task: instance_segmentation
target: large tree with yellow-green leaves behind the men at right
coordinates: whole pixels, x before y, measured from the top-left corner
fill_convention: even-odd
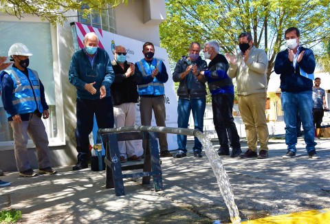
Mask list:
[[[168,0],[161,45],[172,60],[187,54],[191,41],[212,39],[219,41],[222,53],[236,54],[239,34],[250,32],[269,58],[269,80],[288,27],[299,28],[300,43],[307,47],[329,40],[329,5],[329,0]]]

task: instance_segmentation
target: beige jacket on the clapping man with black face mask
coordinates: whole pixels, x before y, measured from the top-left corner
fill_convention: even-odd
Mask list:
[[[247,96],[252,93],[265,93],[267,91],[268,58],[263,49],[252,47],[246,63],[239,53],[235,65],[230,63],[228,76],[236,78],[238,95]],[[245,65],[244,65],[245,64]]]

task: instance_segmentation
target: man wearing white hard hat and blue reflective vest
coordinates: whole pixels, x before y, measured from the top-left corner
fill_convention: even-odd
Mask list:
[[[39,173],[52,175],[56,173],[50,166],[50,149],[45,126],[41,120],[50,115],[45,100],[45,89],[36,71],[28,69],[28,47],[15,43],[9,49],[8,56],[14,62],[12,68],[0,74],[1,100],[12,126],[14,135],[14,153],[17,169],[21,177],[34,177],[36,172],[30,167],[28,135],[36,145]]]

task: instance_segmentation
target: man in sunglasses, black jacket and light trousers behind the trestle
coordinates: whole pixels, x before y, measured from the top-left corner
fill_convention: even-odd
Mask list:
[[[137,83],[141,81],[142,75],[135,72],[135,66],[126,60],[126,49],[116,46],[113,52],[115,59],[111,61],[115,80],[111,85],[113,104],[113,115],[115,127],[135,125],[135,103],[139,99]],[[125,155],[129,161],[139,161],[140,157],[135,155],[134,141],[118,142],[120,150],[120,162],[125,162]]]

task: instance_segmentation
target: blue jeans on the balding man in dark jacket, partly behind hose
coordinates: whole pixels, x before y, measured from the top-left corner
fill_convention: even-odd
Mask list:
[[[195,130],[203,132],[203,118],[206,107],[206,98],[180,99],[177,104],[177,127],[188,128],[190,111],[194,118]],[[187,136],[177,135],[177,146],[179,152],[187,153]],[[201,153],[201,142],[195,137],[194,153]]]

